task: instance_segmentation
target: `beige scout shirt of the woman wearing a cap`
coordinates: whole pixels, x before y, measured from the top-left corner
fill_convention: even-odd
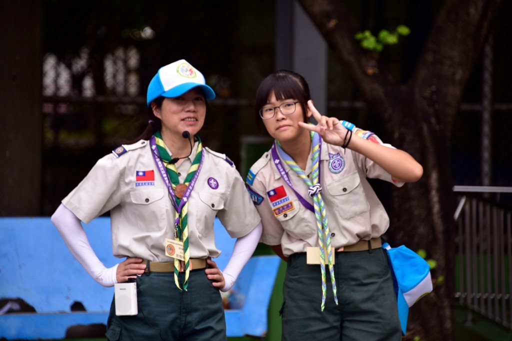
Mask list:
[[[127,152],[119,157],[112,153],[101,158],[62,203],[85,223],[110,210],[115,257],[173,261],[165,255],[164,241],[174,239],[175,209],[150,143],[141,140],[124,147]],[[197,143],[191,156],[178,167],[181,182],[196,150]],[[247,235],[260,222],[237,169],[226,162],[223,154],[208,148],[203,148],[203,153],[204,163],[188,201],[191,258],[219,256],[214,238],[216,216],[233,238]],[[139,171],[145,171],[150,180],[136,181]],[[218,188],[211,179],[217,181]]]

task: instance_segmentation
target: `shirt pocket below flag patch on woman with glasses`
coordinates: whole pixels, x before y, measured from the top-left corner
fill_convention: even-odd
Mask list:
[[[274,212],[275,219],[277,219],[281,223],[283,229],[291,237],[300,240],[306,240],[310,238],[311,236],[314,235],[314,233],[316,233],[316,225],[311,225],[311,223],[305,217],[307,208],[302,206],[298,200],[292,200],[289,201],[289,203],[293,205],[293,209],[287,210],[283,214],[279,214],[278,211],[278,216],[275,216],[275,210],[279,209],[279,207],[272,209],[272,211]],[[280,207],[282,206],[283,205],[281,205]]]

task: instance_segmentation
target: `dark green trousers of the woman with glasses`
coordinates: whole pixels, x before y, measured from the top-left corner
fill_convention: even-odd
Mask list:
[[[306,253],[292,254],[283,287],[283,341],[401,340],[400,322],[388,256],[382,248],[336,252],[334,302],[328,267],[327,300],[322,304],[319,265],[306,264]]]

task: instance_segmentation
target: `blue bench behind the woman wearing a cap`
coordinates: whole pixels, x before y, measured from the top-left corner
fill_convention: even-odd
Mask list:
[[[110,218],[97,218],[84,228],[105,266],[118,263],[112,256]],[[214,260],[223,269],[234,240],[217,219],[215,235],[223,252]],[[106,325],[114,289],[100,286],[89,276],[49,217],[0,218],[0,259],[0,300],[20,299],[35,309],[5,313],[7,307],[0,306],[0,338],[61,339],[72,326]],[[260,255],[247,263],[230,296],[237,309],[225,310],[228,337],[265,336],[280,262],[275,255]],[[86,311],[72,311],[75,303]]]

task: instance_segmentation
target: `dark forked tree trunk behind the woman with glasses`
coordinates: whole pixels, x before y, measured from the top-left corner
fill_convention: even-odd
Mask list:
[[[393,189],[389,212],[393,244],[423,248],[438,263],[432,270],[434,291],[410,310],[404,339],[453,340],[456,230],[450,138],[467,79],[502,0],[447,0],[408,84],[396,84],[385,71],[365,72],[373,61],[353,38],[358,30],[344,2],[299,2],[365,97],[371,115],[382,122],[378,133],[423,165],[420,181]]]

